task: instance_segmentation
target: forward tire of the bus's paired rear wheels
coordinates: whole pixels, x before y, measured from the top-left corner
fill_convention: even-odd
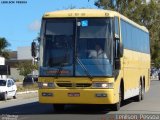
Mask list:
[[[140,102],[143,99],[144,99],[144,87],[142,85],[142,82],[140,82],[140,84],[139,84],[139,95],[135,96],[135,100],[137,102]]]

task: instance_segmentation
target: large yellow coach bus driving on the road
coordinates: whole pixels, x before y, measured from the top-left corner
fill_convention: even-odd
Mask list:
[[[39,41],[39,102],[55,110],[66,104],[119,110],[122,101],[141,101],[149,90],[149,32],[118,12],[47,12]]]

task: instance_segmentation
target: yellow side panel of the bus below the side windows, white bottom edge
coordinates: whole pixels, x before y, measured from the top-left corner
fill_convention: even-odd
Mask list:
[[[150,55],[124,49],[123,60],[124,98],[138,95],[140,79],[144,80],[145,91],[148,91],[150,86]]]

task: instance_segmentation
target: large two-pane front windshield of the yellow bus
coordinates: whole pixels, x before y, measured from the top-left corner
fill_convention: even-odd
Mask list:
[[[40,74],[111,76],[112,26],[111,18],[47,19]]]

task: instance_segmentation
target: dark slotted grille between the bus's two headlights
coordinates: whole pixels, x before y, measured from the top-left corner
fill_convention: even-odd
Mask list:
[[[58,87],[91,87],[91,83],[57,83]]]

